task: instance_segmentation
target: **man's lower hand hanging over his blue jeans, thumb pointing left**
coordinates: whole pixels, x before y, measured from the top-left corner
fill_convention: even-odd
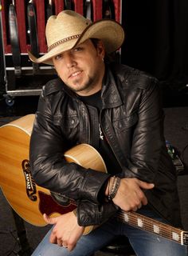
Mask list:
[[[56,218],[51,218],[46,214],[43,215],[45,222],[55,225],[49,241],[57,243],[58,246],[64,246],[69,251],[73,250],[76,242],[84,233],[84,226],[77,224],[77,218],[73,212],[63,214]]]

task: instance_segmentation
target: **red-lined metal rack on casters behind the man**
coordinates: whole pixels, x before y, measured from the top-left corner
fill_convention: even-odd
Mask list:
[[[64,0],[0,0],[0,43],[2,43],[2,62],[4,78],[1,83],[4,86],[3,97],[8,106],[13,106],[15,97],[40,95],[41,88],[50,79],[57,77],[53,66],[39,64],[37,72],[33,72],[33,63],[29,61],[28,50],[32,49],[31,38],[29,35],[28,5],[32,4],[36,17],[36,34],[38,43],[38,57],[45,54],[47,46],[45,42],[45,23],[47,20],[46,9],[49,3],[53,5],[53,14],[58,14],[61,10],[65,10]],[[74,0],[72,8],[80,14],[84,14],[84,5],[88,2],[92,3],[93,21],[103,18],[102,5],[103,0]],[[112,0],[116,21],[121,22],[121,0]],[[15,29],[18,33],[18,45],[20,47],[19,59],[20,70],[14,63],[14,50],[11,43],[10,31],[10,6],[14,7],[17,24]],[[18,72],[19,71],[19,72]],[[2,86],[1,86],[2,87]]]

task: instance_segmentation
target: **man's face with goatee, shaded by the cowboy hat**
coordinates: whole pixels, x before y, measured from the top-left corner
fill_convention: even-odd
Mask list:
[[[104,77],[104,46],[97,48],[91,40],[59,54],[53,58],[53,65],[63,82],[76,94],[91,95],[101,89]]]

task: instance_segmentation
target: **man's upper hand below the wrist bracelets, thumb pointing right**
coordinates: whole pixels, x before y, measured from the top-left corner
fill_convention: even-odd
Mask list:
[[[142,182],[138,178],[122,178],[119,189],[112,201],[125,211],[136,211],[142,205],[147,205],[143,190],[151,190],[154,184]]]

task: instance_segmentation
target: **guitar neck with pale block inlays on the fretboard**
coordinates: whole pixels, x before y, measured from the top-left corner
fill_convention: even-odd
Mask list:
[[[135,226],[141,230],[146,230],[153,234],[158,234],[163,238],[173,240],[182,245],[188,245],[188,232],[169,226],[162,222],[158,222],[152,218],[148,218],[135,212],[119,211],[118,218],[122,222],[126,222],[131,226]]]

